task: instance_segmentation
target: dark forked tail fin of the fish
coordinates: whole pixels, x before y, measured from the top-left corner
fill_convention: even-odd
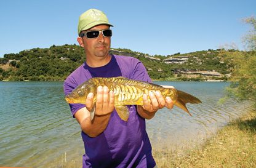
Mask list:
[[[180,90],[177,90],[177,94],[178,94],[178,98],[174,104],[179,108],[181,108],[182,110],[186,111],[186,113],[190,114],[190,116],[192,116],[190,111],[188,111],[188,108],[186,108],[186,103],[198,104],[198,103],[202,103],[201,100],[194,97],[193,95],[187,94]]]

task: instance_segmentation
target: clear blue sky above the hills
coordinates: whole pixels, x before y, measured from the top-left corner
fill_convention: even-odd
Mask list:
[[[114,25],[111,47],[150,55],[218,49],[243,50],[250,30],[242,18],[256,16],[256,1],[0,1],[0,57],[34,47],[78,44],[78,17],[87,9],[105,12]]]

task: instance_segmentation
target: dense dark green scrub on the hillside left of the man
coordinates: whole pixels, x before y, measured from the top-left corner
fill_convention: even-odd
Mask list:
[[[84,62],[84,51],[76,45],[52,46],[50,49],[34,48],[19,54],[5,54],[1,65],[9,60],[16,67],[0,71],[1,80],[9,81],[60,81]]]

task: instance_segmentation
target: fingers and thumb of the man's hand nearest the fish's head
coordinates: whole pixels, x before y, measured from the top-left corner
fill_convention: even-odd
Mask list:
[[[94,108],[94,94],[89,93],[86,98],[86,108],[91,111]],[[114,92],[110,91],[108,87],[99,86],[97,88],[95,114],[97,116],[104,116],[114,111]]]

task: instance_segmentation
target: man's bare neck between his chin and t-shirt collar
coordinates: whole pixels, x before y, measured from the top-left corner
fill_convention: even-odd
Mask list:
[[[90,67],[100,67],[108,64],[111,60],[111,55],[108,54],[106,57],[86,57],[86,63]]]

